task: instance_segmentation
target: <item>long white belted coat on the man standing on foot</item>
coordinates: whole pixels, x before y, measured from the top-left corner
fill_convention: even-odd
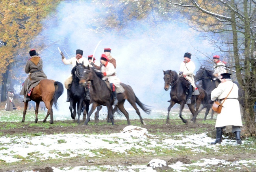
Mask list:
[[[234,87],[232,89],[232,86]],[[232,91],[230,92],[230,90]],[[228,95],[228,93],[230,94]],[[232,81],[226,81],[224,83],[220,83],[216,89],[211,92],[211,100],[214,101],[216,98],[223,99],[226,98],[235,98],[235,99],[226,99],[223,107],[221,109],[221,113],[218,114],[215,128],[216,127],[224,127],[224,126],[243,126],[240,106],[237,100],[238,98],[238,87]],[[221,102],[223,103],[223,101]]]

